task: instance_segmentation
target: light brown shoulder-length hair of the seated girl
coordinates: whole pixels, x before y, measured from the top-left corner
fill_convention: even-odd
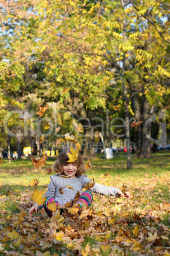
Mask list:
[[[71,153],[70,148],[64,148],[62,152],[60,152],[60,154],[58,155],[55,164],[53,164],[53,168],[58,174],[63,174],[63,165],[69,161],[67,153]],[[77,173],[75,174],[75,176],[81,176],[81,174],[86,172],[86,168],[80,153],[78,153],[75,164],[77,164]]]

